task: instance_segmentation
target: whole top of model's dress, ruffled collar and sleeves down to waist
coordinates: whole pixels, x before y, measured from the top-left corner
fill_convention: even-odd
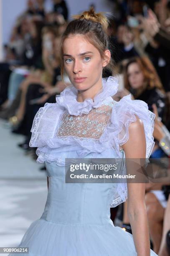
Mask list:
[[[129,125],[135,122],[137,117],[142,121],[145,130],[146,158],[150,156],[155,144],[152,136],[155,114],[148,110],[147,104],[142,100],[132,100],[130,94],[124,96],[119,102],[113,100],[112,96],[117,90],[116,78],[102,79],[102,89],[95,95],[94,100],[86,98],[84,102],[77,102],[77,90],[71,85],[61,92],[60,97],[56,98],[56,103],[46,103],[36,113],[31,129],[30,147],[37,147],[37,162],[46,162],[51,180],[46,209],[55,207],[58,202],[65,204],[65,210],[66,206],[70,209],[75,197],[75,200],[80,202],[77,207],[81,207],[83,211],[82,202],[88,197],[90,203],[92,200],[90,194],[96,195],[94,202],[102,202],[100,189],[103,189],[104,198],[108,199],[109,189],[113,188],[109,184],[105,187],[104,184],[64,184],[58,177],[65,174],[62,170],[66,158],[121,159],[125,157],[122,155],[121,147],[128,141]],[[121,172],[122,169],[119,174],[122,174]],[[51,173],[54,175],[51,176]],[[93,191],[93,185],[98,193]],[[69,193],[69,189],[74,191],[74,186],[79,194],[71,199],[70,195],[74,192]],[[61,194],[63,200],[57,197],[58,194]],[[111,189],[110,195],[112,195],[110,207],[124,202],[127,199],[127,184],[119,183],[115,189]],[[103,203],[107,205],[108,202],[106,200]],[[57,205],[56,211],[57,208],[62,207]],[[91,212],[98,210],[102,214],[100,207]],[[44,214],[48,218],[50,210]],[[57,217],[54,216],[54,218]]]

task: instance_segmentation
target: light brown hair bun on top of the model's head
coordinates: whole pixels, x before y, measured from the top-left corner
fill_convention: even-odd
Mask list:
[[[95,13],[94,8],[91,7],[88,11],[84,11],[83,13],[79,15],[73,15],[72,17],[75,20],[92,20],[94,22],[98,22],[101,24],[103,29],[106,31],[107,27],[109,25],[109,20],[106,16],[104,16],[105,12]]]

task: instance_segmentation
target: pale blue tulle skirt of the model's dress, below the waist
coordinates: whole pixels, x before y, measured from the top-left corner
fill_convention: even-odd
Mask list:
[[[77,225],[35,220],[18,247],[29,253],[8,256],[137,256],[133,236],[120,227]],[[151,250],[151,256],[157,256]]]

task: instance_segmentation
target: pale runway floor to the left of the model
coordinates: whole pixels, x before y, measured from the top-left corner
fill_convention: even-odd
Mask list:
[[[46,173],[17,146],[23,139],[0,121],[0,247],[18,246],[46,204]]]

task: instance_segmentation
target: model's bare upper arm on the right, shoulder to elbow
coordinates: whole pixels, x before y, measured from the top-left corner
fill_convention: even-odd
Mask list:
[[[129,125],[129,139],[122,145],[122,148],[126,158],[136,159],[137,162],[140,162],[140,158],[146,158],[146,139],[142,120],[137,116],[136,118],[137,120]],[[127,190],[128,212],[139,210],[139,207],[145,202],[145,183],[127,183]]]

